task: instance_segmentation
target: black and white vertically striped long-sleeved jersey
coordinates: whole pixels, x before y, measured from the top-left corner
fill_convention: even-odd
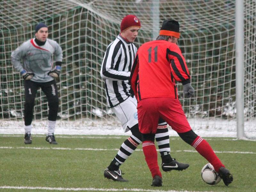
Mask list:
[[[122,103],[132,92],[128,79],[136,52],[136,46],[126,42],[120,35],[108,45],[100,76],[105,79],[107,103],[110,108]]]

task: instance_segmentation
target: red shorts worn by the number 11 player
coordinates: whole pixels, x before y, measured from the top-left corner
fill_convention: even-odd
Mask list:
[[[164,119],[178,133],[191,130],[178,99],[169,97],[146,98],[139,101],[137,109],[139,129],[142,133],[156,133],[159,117]]]

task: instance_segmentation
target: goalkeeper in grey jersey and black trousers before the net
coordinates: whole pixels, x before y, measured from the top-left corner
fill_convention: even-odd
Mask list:
[[[57,113],[59,109],[58,88],[55,82],[60,76],[62,50],[60,45],[48,39],[48,27],[39,23],[35,29],[36,38],[21,44],[12,52],[11,62],[16,71],[24,79],[25,87],[25,137],[24,143],[31,144],[31,129],[33,108],[38,88],[41,88],[48,101],[48,133],[46,141],[57,144],[54,136]],[[55,68],[53,69],[53,56],[55,56]]]

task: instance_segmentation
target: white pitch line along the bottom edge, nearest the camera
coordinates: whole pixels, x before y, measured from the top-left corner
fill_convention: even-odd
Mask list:
[[[62,187],[23,187],[23,186],[0,186],[2,189],[40,189],[40,190],[57,190],[57,191],[145,191],[145,192],[199,192],[199,191],[176,191],[176,190],[151,190],[139,188],[62,188]]]

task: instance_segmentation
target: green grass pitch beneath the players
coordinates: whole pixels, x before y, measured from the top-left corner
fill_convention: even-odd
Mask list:
[[[162,171],[163,187],[154,188],[150,186],[152,178],[141,145],[121,165],[123,177],[129,182],[104,178],[104,169],[127,136],[73,135],[68,138],[56,135],[58,145],[50,145],[43,135],[32,135],[32,144],[25,145],[23,137],[0,135],[0,191],[75,191],[79,188],[84,191],[256,190],[255,141],[204,138],[233,174],[233,183],[226,187],[223,181],[214,186],[204,183],[200,173],[207,161],[179,137],[170,137],[172,157],[190,166],[182,172]],[[159,153],[158,157],[160,165]]]

